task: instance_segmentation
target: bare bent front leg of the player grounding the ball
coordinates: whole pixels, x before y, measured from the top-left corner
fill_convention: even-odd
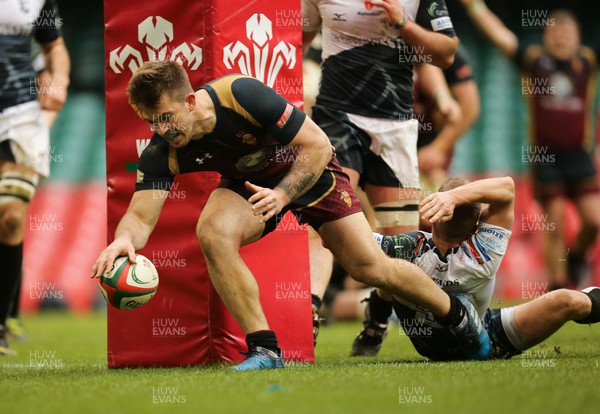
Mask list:
[[[258,284],[239,252],[264,226],[247,200],[225,188],[212,192],[196,226],[215,290],[246,334],[269,329]]]

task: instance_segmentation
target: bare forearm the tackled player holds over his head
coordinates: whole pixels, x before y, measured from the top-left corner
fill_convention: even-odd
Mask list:
[[[512,203],[515,184],[511,177],[488,178],[450,190],[456,204],[486,203],[494,206]]]

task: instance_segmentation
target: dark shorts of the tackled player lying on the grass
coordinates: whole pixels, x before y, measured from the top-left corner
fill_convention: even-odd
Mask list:
[[[415,317],[415,311],[397,301],[394,301],[394,310],[404,332],[420,355],[433,361],[467,359],[459,348],[458,340],[448,329],[423,324]],[[512,358],[522,353],[508,339],[502,326],[500,309],[488,309],[483,318],[483,326],[492,342],[492,359]]]

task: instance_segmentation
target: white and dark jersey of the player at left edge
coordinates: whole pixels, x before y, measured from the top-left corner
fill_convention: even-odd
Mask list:
[[[0,1],[0,111],[37,99],[31,40],[60,37],[62,19],[52,0]]]

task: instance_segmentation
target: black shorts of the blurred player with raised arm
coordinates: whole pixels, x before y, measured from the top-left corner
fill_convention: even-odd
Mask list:
[[[555,197],[577,199],[598,192],[596,167],[583,149],[553,150],[525,157],[531,166],[535,198],[544,203]]]

